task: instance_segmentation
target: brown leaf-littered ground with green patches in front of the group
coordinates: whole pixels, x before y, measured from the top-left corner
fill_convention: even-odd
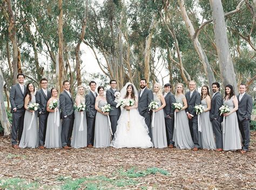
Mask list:
[[[0,189],[256,189],[250,151],[12,149],[0,137]]]

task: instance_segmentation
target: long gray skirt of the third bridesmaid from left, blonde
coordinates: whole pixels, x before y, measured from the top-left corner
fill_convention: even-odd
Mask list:
[[[83,119],[82,123],[81,119]],[[86,111],[80,112],[75,110],[75,121],[72,132],[71,146],[75,149],[87,146]]]

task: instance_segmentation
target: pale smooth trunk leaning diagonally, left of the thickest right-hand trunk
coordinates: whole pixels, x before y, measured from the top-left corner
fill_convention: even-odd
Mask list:
[[[186,24],[187,31],[190,34],[190,38],[191,38],[191,40],[194,44],[194,48],[196,49],[197,54],[199,56],[199,59],[200,59],[201,63],[204,66],[205,75],[208,79],[208,83],[209,83],[210,88],[211,88],[211,84],[213,82],[215,82],[214,74],[213,74],[211,65],[209,64],[207,55],[205,54],[205,52],[203,50],[203,47],[201,46],[201,44],[198,40],[198,37],[197,36],[194,37],[194,33],[195,33],[194,26],[191,23],[190,18],[187,16],[184,0],[179,1],[179,7],[180,7],[181,16],[183,18],[183,21]]]

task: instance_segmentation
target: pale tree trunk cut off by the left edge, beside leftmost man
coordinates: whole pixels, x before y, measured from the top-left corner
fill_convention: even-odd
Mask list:
[[[4,135],[10,135],[11,128],[10,123],[6,114],[5,105],[4,105],[4,75],[2,69],[0,68],[0,122],[4,129]]]

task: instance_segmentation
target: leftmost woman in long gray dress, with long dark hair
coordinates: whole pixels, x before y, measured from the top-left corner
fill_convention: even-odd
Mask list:
[[[35,87],[32,83],[26,86],[26,93],[24,99],[24,108],[26,109],[24,115],[24,127],[22,132],[19,147],[35,148],[38,147],[38,125],[37,125],[37,111],[29,110],[28,105],[36,103]]]

